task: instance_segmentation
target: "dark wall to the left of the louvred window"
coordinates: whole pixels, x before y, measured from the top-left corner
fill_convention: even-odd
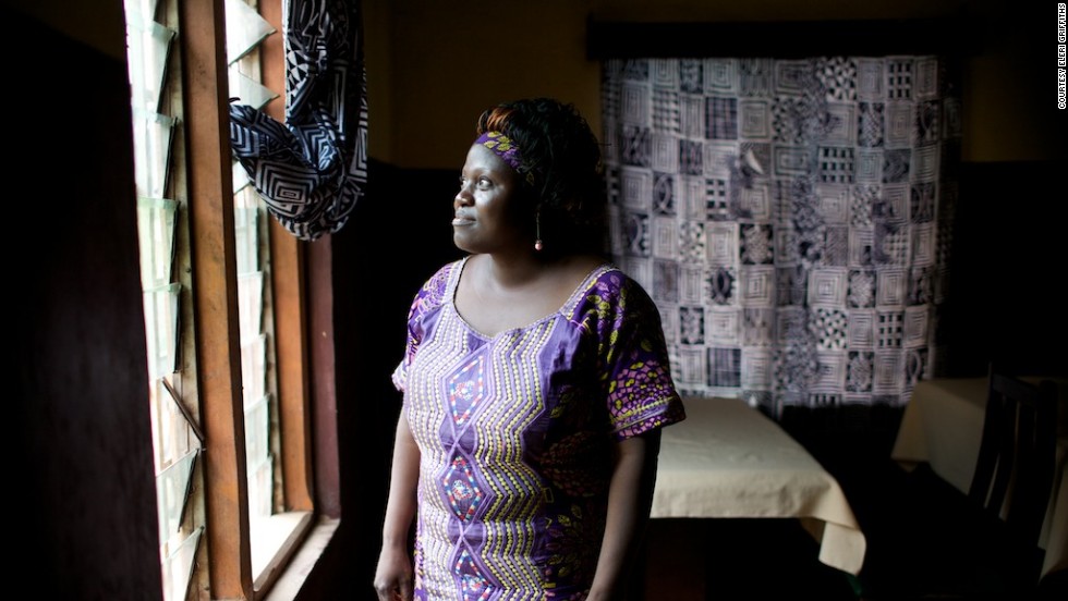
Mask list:
[[[0,22],[9,573],[41,599],[161,599],[125,64]]]

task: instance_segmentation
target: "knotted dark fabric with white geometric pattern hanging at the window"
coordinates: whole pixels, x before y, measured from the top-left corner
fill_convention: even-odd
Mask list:
[[[267,210],[301,240],[340,230],[367,182],[359,2],[288,0],[286,123],[230,105],[230,144]]]

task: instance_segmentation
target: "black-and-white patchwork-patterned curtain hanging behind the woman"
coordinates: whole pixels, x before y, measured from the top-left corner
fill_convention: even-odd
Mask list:
[[[938,334],[960,148],[938,57],[612,59],[612,253],[687,394],[908,402]]]

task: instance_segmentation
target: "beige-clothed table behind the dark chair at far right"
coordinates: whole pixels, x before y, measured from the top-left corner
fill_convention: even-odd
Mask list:
[[[1023,378],[1037,382],[1042,378]],[[1058,383],[1056,475],[1039,545],[1046,550],[1042,575],[1068,568],[1068,383]],[[921,380],[901,416],[890,456],[906,469],[926,462],[960,491],[971,486],[983,433],[987,378]]]

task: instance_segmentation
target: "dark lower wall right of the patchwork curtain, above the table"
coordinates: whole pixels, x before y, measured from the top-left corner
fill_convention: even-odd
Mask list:
[[[1068,203],[1064,161],[966,163],[944,319],[950,372],[997,360],[1020,375],[1068,376]]]

